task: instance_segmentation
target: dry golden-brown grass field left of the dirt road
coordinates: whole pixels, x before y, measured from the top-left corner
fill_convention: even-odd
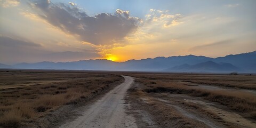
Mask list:
[[[118,75],[85,71],[0,70],[0,75],[0,127],[19,127],[123,81]]]

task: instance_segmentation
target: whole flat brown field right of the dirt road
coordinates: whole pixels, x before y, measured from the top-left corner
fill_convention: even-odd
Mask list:
[[[256,76],[130,73],[127,101],[146,127],[255,127]],[[145,118],[151,115],[152,120]],[[141,120],[141,121],[139,121]],[[151,122],[151,123],[150,123]],[[152,123],[153,122],[153,123]]]

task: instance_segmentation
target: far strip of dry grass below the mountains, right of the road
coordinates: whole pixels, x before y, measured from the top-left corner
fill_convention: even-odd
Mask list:
[[[164,73],[126,73],[151,82],[197,83],[238,89],[256,90],[255,75],[218,75],[218,74],[164,74]]]

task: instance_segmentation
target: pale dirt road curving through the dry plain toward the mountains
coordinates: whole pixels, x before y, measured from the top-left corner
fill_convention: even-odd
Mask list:
[[[133,78],[123,77],[124,83],[116,86],[103,98],[93,103],[89,109],[81,111],[82,116],[60,127],[137,127],[135,119],[125,113],[127,104],[124,102],[124,96],[133,83]]]

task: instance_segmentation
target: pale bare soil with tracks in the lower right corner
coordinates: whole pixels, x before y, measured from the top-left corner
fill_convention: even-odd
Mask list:
[[[156,100],[175,107],[181,114],[210,127],[254,127],[256,123],[229,111],[226,106],[183,94],[158,93]],[[208,115],[207,114],[212,114]]]

